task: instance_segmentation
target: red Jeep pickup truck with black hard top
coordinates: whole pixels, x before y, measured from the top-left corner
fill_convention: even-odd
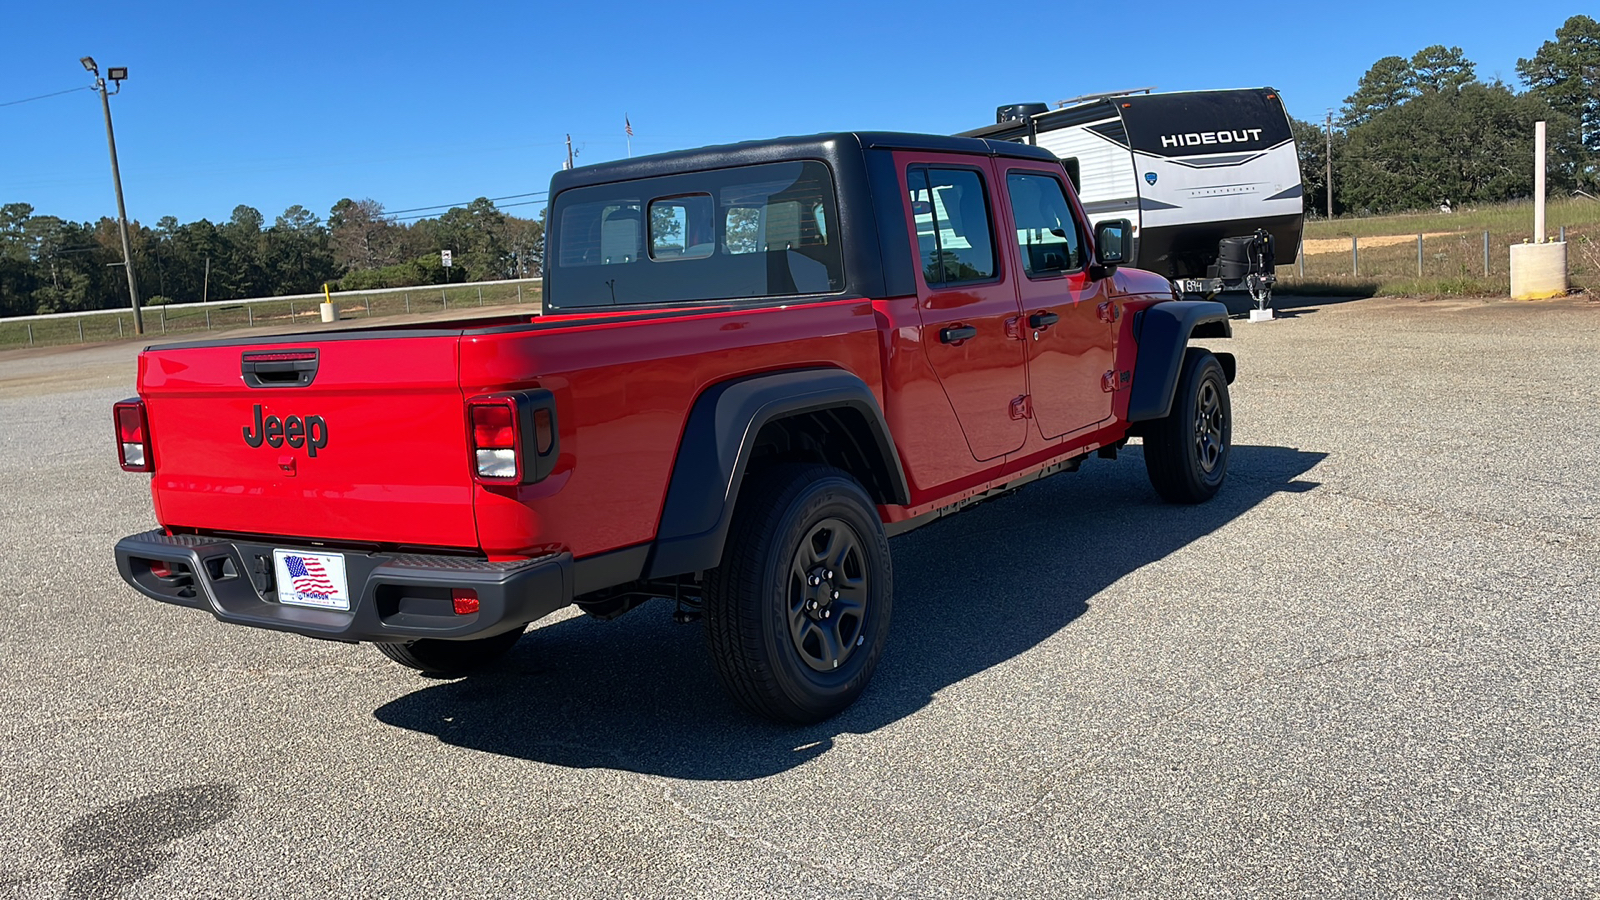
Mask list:
[[[890,536],[1130,436],[1166,500],[1222,484],[1226,309],[1118,267],[1046,151],[707,147],[562,171],[547,221],[541,315],[146,349],[122,577],[437,674],[675,597],[741,706],[813,722],[883,653]]]

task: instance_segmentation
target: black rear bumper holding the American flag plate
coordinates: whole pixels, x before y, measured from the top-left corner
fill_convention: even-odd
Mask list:
[[[280,604],[272,551],[341,552],[350,609]],[[165,567],[171,573],[157,575]],[[117,541],[117,570],[139,593],[208,610],[232,625],[293,631],[331,641],[398,642],[488,637],[573,602],[573,557],[514,562],[459,556],[374,554],[294,543],[254,543],[160,530]],[[478,610],[458,615],[453,588],[477,593]]]

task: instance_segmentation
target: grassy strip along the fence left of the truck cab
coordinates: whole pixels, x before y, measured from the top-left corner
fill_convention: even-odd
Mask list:
[[[350,322],[371,315],[419,315],[450,309],[474,311],[480,304],[515,304],[518,285],[426,285],[395,288],[378,295],[333,295],[339,319]],[[482,298],[482,299],[480,299]],[[522,285],[523,304],[539,299],[539,285]],[[224,331],[248,327],[314,327],[322,323],[315,299],[251,299],[237,304],[197,307],[187,304],[144,307],[144,338],[194,336],[206,331]],[[82,330],[80,330],[82,328]],[[0,349],[29,346],[77,344],[115,341],[133,336],[133,314],[126,309],[109,309],[94,315],[69,319],[6,319],[0,320]]]

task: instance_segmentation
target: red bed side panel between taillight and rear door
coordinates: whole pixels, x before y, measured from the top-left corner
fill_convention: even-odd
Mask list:
[[[866,299],[466,335],[464,396],[554,392],[562,447],[539,484],[474,488],[480,546],[493,557],[542,549],[582,557],[648,541],[683,424],[706,388],[834,367],[858,375],[882,405],[878,359]]]

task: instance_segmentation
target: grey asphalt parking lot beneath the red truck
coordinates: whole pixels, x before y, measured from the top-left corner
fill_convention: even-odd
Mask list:
[[[1290,306],[1213,503],[1131,447],[898,538],[806,729],[661,602],[429,681],[147,601],[136,346],[0,354],[0,895],[1600,895],[1600,303]]]

